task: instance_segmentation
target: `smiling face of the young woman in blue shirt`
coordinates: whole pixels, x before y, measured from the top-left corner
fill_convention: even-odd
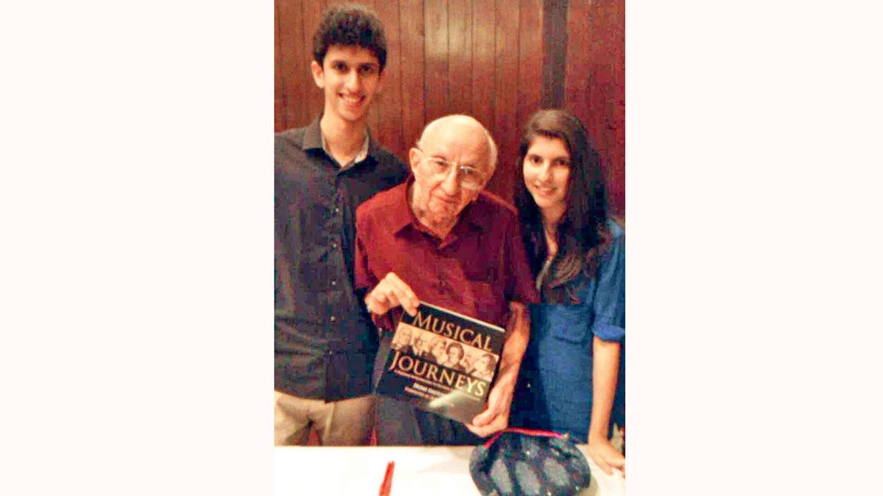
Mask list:
[[[537,135],[525,154],[525,186],[544,217],[559,218],[567,209],[570,153],[558,138]]]

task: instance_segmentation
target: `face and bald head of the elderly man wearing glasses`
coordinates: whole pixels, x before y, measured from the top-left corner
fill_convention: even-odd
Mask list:
[[[455,116],[460,117],[460,116]],[[446,233],[463,209],[479,196],[479,190],[464,188],[458,166],[478,169],[490,178],[490,146],[484,128],[467,118],[448,118],[427,128],[419,148],[411,148],[409,158],[414,172],[411,209],[419,221],[438,233]],[[437,174],[429,159],[456,163],[448,174]]]

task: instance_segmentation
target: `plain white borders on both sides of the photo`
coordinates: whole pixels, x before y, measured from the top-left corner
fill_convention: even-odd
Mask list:
[[[0,8],[0,493],[271,493],[272,5]],[[630,494],[879,486],[880,13],[628,4]]]

